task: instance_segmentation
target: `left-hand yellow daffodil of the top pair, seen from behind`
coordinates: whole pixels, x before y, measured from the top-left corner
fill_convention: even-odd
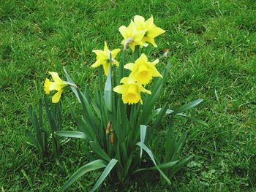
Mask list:
[[[121,44],[124,45],[124,50],[127,48],[127,45],[131,47],[132,52],[135,51],[136,45],[146,46],[146,44],[141,41],[146,33],[146,30],[138,30],[132,20],[128,27],[121,26],[119,28],[119,32],[124,37],[124,40],[121,42]]]

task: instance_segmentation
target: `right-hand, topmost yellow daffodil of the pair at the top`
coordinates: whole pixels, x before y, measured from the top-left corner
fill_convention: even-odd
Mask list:
[[[154,18],[151,16],[148,20],[145,21],[140,15],[136,15],[134,19],[135,27],[137,30],[146,30],[146,33],[142,39],[142,42],[145,44],[146,42],[151,43],[154,47],[157,47],[157,44],[154,42],[154,38],[159,36],[160,34],[165,33],[165,30],[157,27],[154,24]]]

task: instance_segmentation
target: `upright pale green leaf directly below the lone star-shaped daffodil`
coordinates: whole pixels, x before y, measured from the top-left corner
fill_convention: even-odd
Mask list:
[[[104,101],[107,109],[112,112],[112,85],[111,85],[111,64],[108,69],[108,77],[104,88]]]

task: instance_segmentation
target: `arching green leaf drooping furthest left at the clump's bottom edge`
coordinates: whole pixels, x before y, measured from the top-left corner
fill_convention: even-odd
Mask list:
[[[61,190],[64,191],[65,189],[67,189],[70,185],[72,185],[72,183],[78,180],[79,177],[83,176],[83,174],[86,174],[86,172],[91,172],[97,169],[104,168],[106,166],[106,161],[103,161],[101,159],[91,161],[91,163],[81,166],[74,174],[72,174],[69,180],[67,180],[67,182],[62,186]]]

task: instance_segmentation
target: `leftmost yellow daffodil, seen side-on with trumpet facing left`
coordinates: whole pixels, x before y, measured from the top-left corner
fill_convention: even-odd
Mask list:
[[[61,80],[58,73],[49,72],[51,77],[53,77],[53,82],[51,82],[48,78],[45,80],[45,93],[50,94],[50,91],[58,91],[53,95],[52,101],[53,103],[58,103],[59,99],[61,99],[61,93],[64,91],[64,88],[69,85],[68,82]]]

